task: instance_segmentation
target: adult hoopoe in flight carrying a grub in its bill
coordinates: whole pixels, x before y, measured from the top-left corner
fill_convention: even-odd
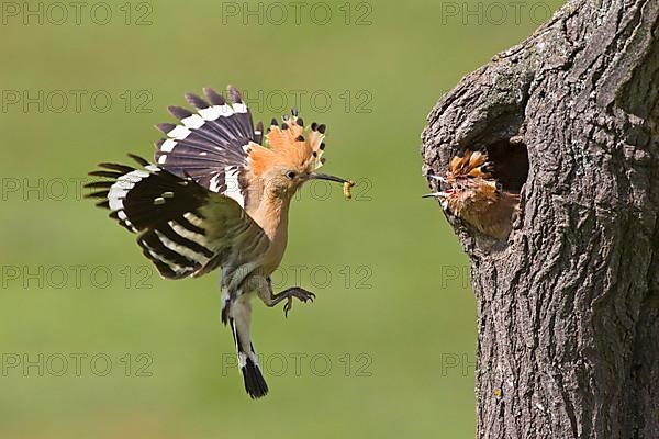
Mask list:
[[[286,300],[287,316],[293,297],[314,299],[299,286],[275,294],[270,282],[287,246],[291,198],[312,179],[353,182],[317,172],[325,125],[305,127],[292,110],[264,135],[237,89],[228,87],[228,100],[212,89],[204,93],[209,102],[186,94],[197,113],[169,108],[181,124],[156,125],[167,135],[156,143],[157,165],[133,155],[142,168],[100,164],[90,176],[109,180],[87,184],[98,190],[88,196],[103,199],[97,205],[139,234],[144,256],[164,278],[221,268],[221,318],[231,326],[245,390],[258,398],[268,386],[249,336],[252,296],[267,306]]]

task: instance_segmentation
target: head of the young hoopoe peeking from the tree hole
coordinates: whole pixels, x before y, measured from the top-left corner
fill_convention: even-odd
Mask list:
[[[487,153],[465,151],[450,160],[446,177],[429,175],[440,182],[440,190],[424,196],[438,198],[442,207],[457,216],[465,216],[479,204],[496,201],[500,187],[492,177]]]

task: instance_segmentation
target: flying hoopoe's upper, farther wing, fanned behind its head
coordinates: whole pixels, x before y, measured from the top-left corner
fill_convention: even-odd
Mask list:
[[[203,91],[209,102],[197,94],[186,94],[197,113],[180,106],[169,108],[181,125],[156,125],[167,138],[156,143],[155,160],[169,172],[191,177],[200,185],[245,207],[246,148],[250,142],[261,144],[263,124],[254,128],[249,109],[236,88],[228,87],[228,102],[213,89]]]

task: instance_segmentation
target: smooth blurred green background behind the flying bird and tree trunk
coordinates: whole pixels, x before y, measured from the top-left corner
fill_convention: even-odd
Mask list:
[[[0,437],[473,437],[468,261],[420,198],[420,133],[560,2],[98,3],[2,3]],[[183,92],[227,83],[256,119],[326,123],[324,169],[359,180],[294,202],[275,283],[317,300],[288,320],[255,301],[257,402],[217,274],[160,280],[79,193],[97,162],[149,156]]]

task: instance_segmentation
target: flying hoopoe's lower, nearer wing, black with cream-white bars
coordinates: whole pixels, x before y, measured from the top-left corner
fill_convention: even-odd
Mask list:
[[[264,230],[233,199],[209,191],[190,178],[133,157],[143,169],[101,164],[90,176],[87,196],[134,233],[137,244],[164,278],[198,277],[222,266],[231,269],[265,252]]]

